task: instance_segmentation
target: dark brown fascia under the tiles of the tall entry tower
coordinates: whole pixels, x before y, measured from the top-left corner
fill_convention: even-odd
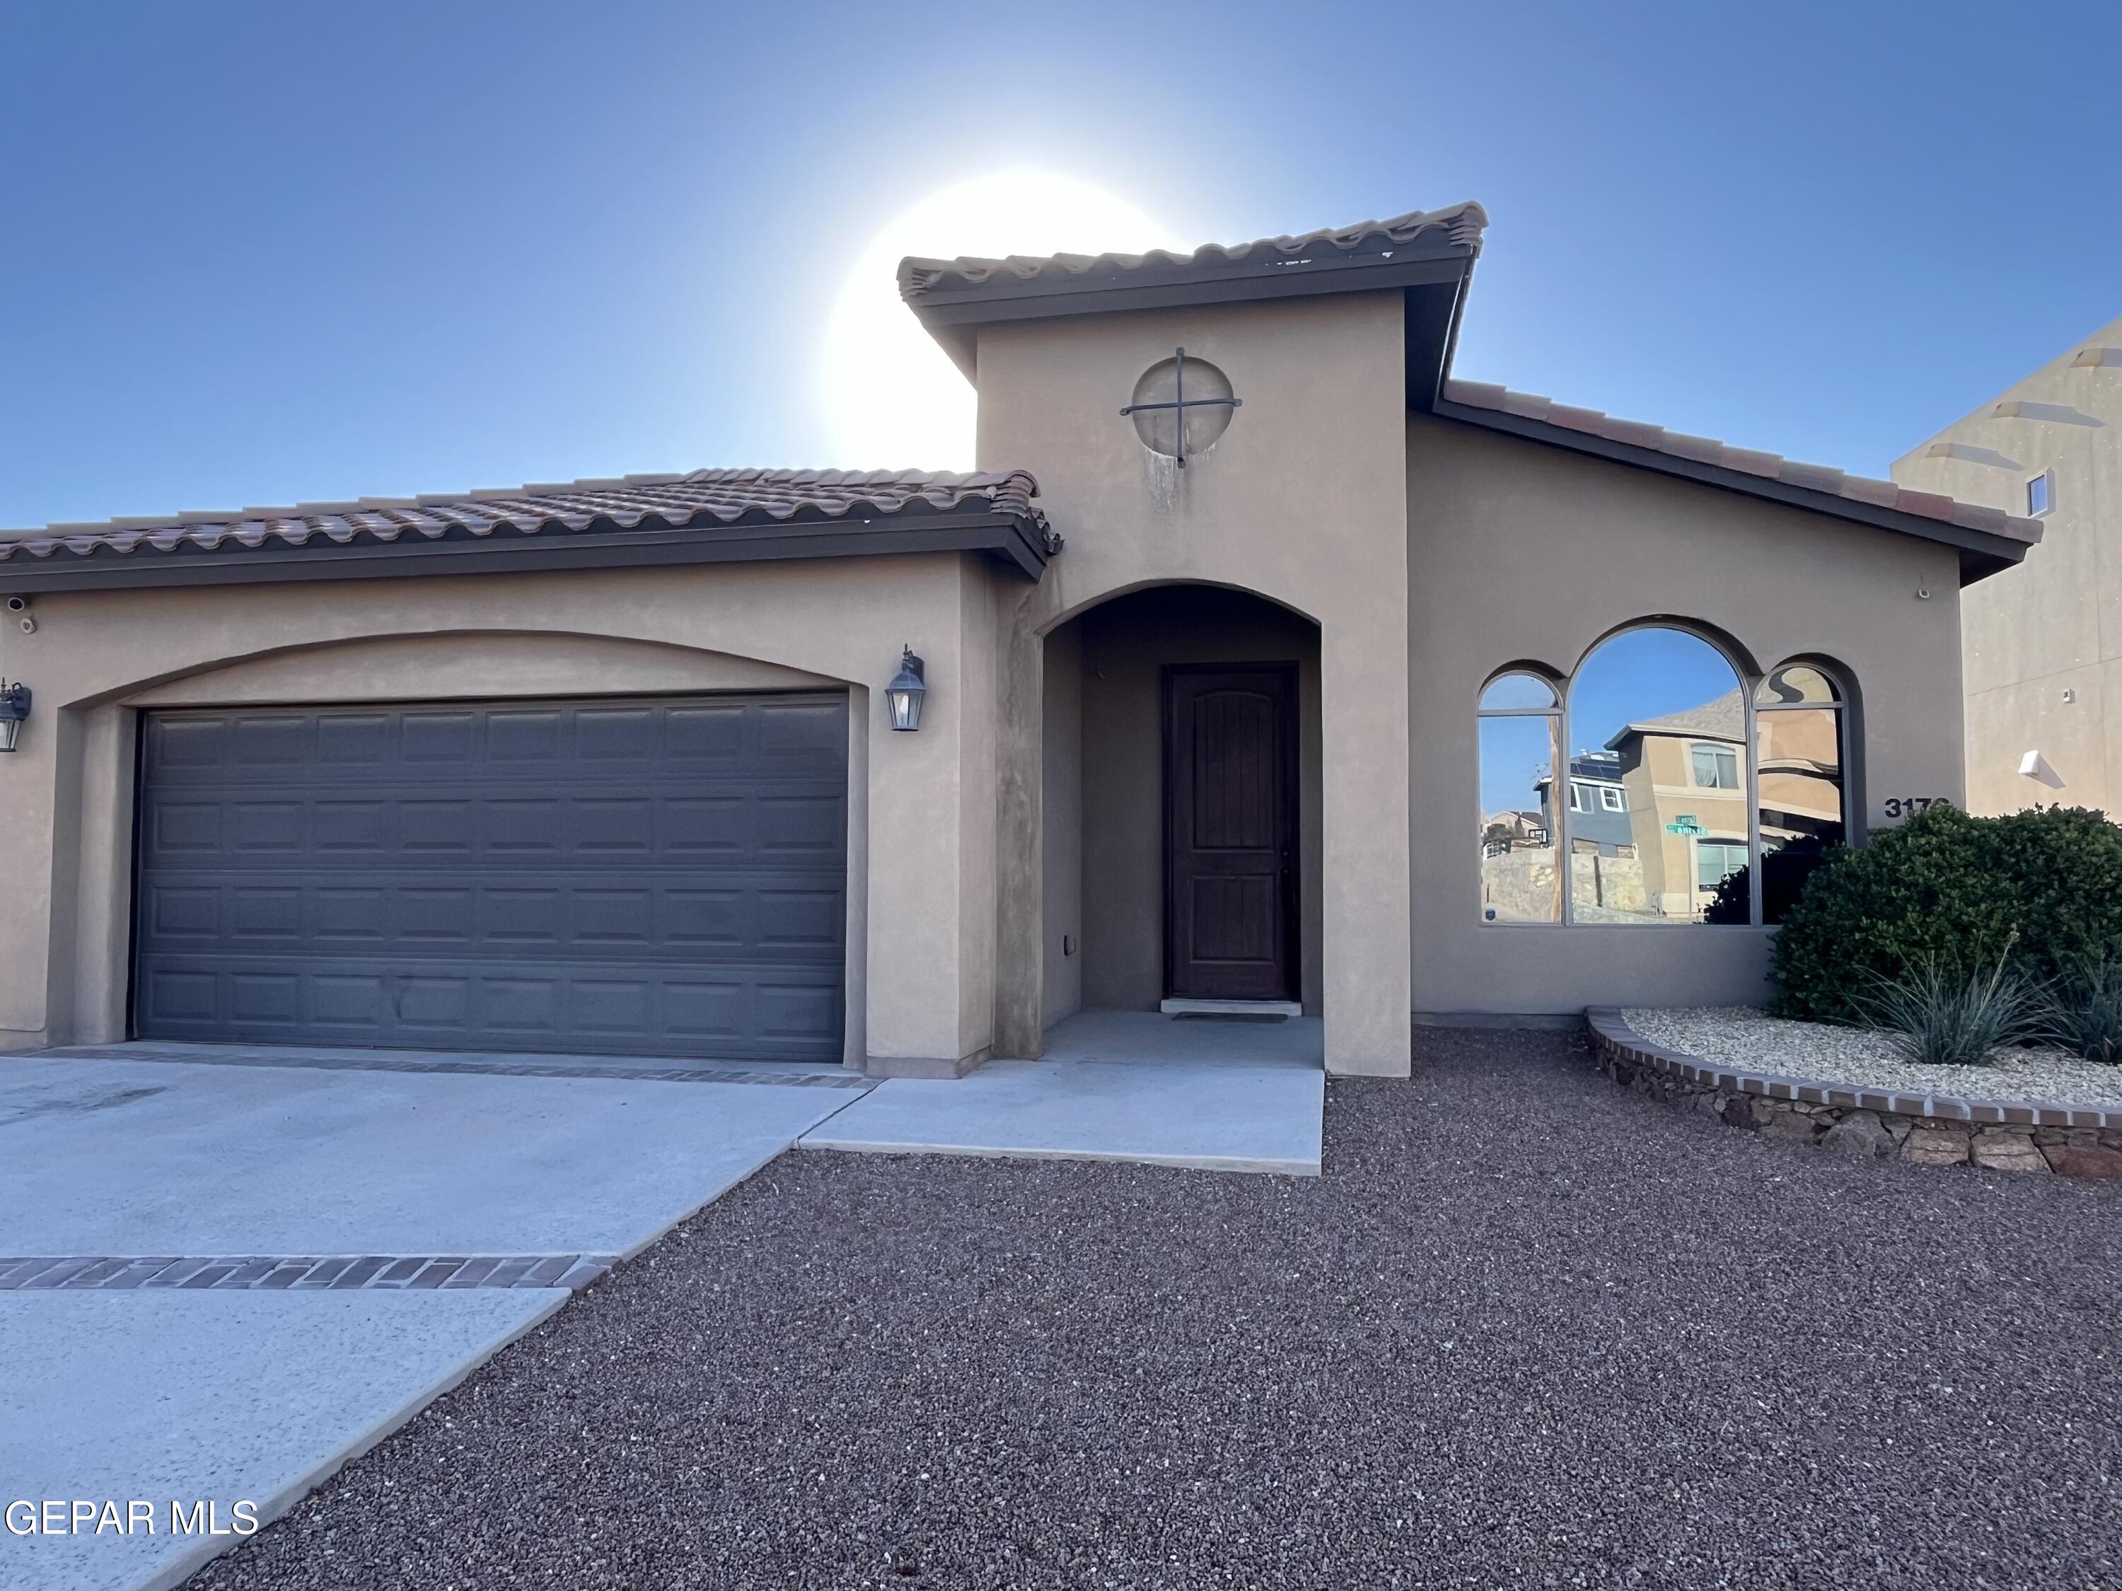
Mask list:
[[[1263,299],[1301,299],[1324,293],[1392,293],[1409,286],[1451,282],[1473,261],[1473,250],[1449,252],[1392,250],[1394,259],[1354,255],[1350,259],[1318,259],[1311,265],[1241,263],[1224,272],[1188,272],[1161,282],[1131,276],[1067,278],[1042,282],[1010,278],[1006,284],[982,282],[963,291],[923,295],[910,301],[927,333],[942,344],[953,363],[974,378],[974,327],[1006,320],[1048,320],[1072,314],[1120,314],[1125,310],[1193,310],[1218,303],[1252,303]],[[1401,259],[1409,252],[1409,259]]]

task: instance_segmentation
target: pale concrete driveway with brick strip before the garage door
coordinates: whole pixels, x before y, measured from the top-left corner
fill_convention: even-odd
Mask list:
[[[212,1534],[238,1502],[274,1517],[866,1086],[554,1056],[0,1059],[0,1504],[38,1504],[8,1510],[0,1585],[176,1585],[238,1540]]]

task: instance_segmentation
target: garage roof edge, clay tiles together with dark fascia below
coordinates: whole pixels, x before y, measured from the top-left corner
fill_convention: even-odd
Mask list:
[[[1023,471],[702,469],[465,496],[0,535],[0,592],[985,552],[1038,579],[1061,539]]]

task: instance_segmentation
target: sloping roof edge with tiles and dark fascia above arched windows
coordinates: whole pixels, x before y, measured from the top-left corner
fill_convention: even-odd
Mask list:
[[[1848,475],[1825,465],[1802,465],[1780,454],[1729,448],[1710,437],[1615,420],[1598,409],[1577,409],[1485,382],[1445,382],[1434,414],[1551,448],[1940,541],[1961,554],[1961,585],[2010,569],[2041,539],[2039,520],[2022,520],[2003,509],[1959,503],[1935,492],[1912,492],[1893,482]]]

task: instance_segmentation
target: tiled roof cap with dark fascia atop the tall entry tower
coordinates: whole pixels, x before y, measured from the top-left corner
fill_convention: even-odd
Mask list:
[[[900,297],[972,380],[982,325],[1403,289],[1409,403],[1426,409],[1443,380],[1483,227],[1479,204],[1456,204],[1301,238],[1207,244],[1193,255],[904,259]]]

